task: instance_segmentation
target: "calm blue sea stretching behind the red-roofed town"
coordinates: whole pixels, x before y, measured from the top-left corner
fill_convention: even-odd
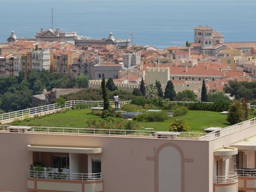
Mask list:
[[[0,42],[60,28],[79,36],[131,39],[158,49],[194,42],[209,26],[224,42],[256,42],[255,0],[0,0]],[[131,36],[132,34],[132,36]]]

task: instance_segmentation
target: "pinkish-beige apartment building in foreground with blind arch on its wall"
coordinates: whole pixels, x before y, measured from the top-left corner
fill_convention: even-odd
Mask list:
[[[251,119],[199,134],[97,134],[1,125],[0,190],[255,191],[255,126]]]

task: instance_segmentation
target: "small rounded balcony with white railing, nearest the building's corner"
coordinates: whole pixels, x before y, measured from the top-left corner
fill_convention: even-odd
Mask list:
[[[224,176],[214,176],[214,191],[237,192],[237,173],[227,171]]]

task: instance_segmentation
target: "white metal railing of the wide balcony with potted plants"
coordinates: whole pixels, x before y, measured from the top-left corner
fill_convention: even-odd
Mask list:
[[[46,168],[45,169],[49,169]],[[54,168],[52,168],[54,169]],[[29,178],[36,179],[61,179],[72,181],[98,181],[103,180],[102,173],[69,173],[69,172],[56,172],[56,171],[32,171],[28,170]]]

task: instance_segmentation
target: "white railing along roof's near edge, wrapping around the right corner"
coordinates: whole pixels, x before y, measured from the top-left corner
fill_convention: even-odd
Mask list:
[[[15,126],[15,131],[9,130],[10,125],[0,125],[0,132],[3,133],[29,133],[29,134],[61,134],[61,135],[80,135],[80,136],[105,136],[105,137],[133,137],[133,138],[151,138],[151,139],[180,139],[180,140],[201,140],[211,141],[220,137],[235,133],[247,129],[251,126],[256,125],[256,118],[223,128],[219,131],[211,133],[191,133],[191,132],[180,132],[177,134],[160,134],[157,131],[146,131],[146,130],[117,130],[117,129],[97,129],[97,128],[70,128],[70,127],[26,127],[26,126]],[[13,127],[13,126],[12,126]],[[174,135],[176,135],[174,137]],[[162,137],[163,136],[163,137]]]

